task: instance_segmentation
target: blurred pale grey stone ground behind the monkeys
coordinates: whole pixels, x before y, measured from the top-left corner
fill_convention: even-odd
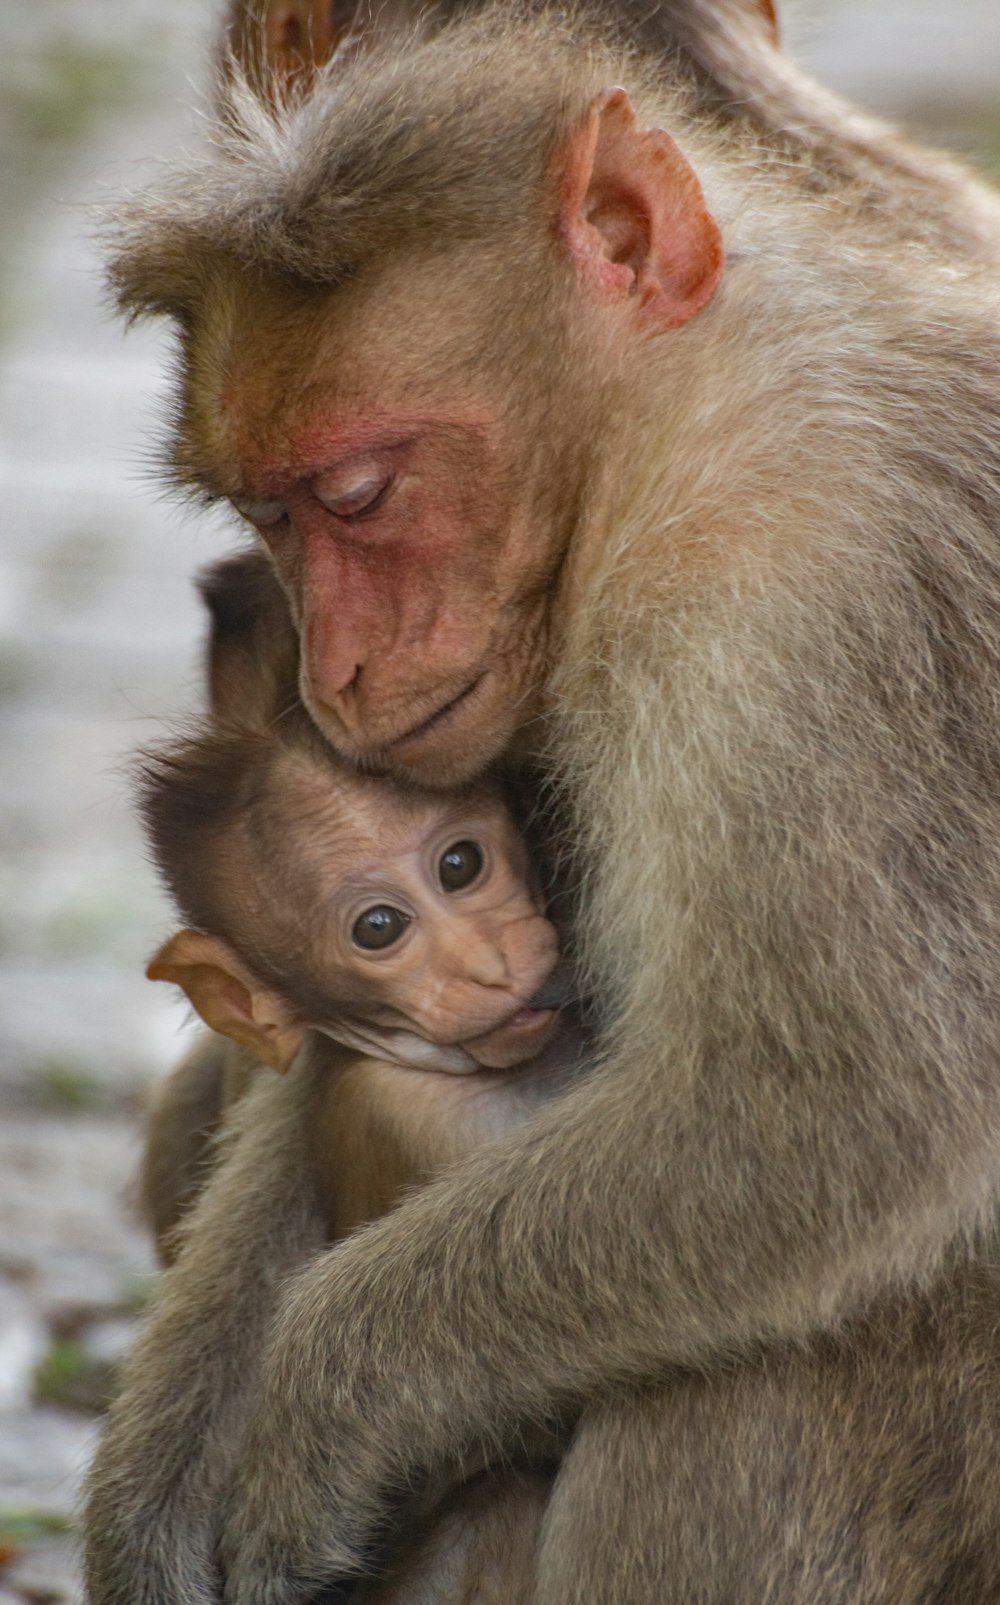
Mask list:
[[[127,759],[197,698],[189,575],[233,541],[157,499],[162,342],[101,308],[88,205],[196,133],[210,0],[0,6],[0,1605],[80,1600],[74,1514],[152,1279],[127,1193],[183,1013]],[[997,0],[815,0],[799,53],[1000,160]]]

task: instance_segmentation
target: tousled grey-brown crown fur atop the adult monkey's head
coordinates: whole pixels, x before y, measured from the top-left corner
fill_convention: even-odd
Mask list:
[[[234,71],[207,149],[108,218],[120,310],[183,321],[226,260],[332,287],[388,252],[536,226],[555,146],[624,53],[563,14],[522,22],[514,56],[510,22],[395,35],[276,101]]]

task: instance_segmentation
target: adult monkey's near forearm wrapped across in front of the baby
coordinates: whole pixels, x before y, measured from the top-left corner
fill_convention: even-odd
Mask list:
[[[414,1473],[929,1270],[986,1202],[995,1083],[756,1048],[743,1085],[706,1056],[682,1101],[663,1067],[612,1066],[297,1279],[241,1456],[231,1605],[350,1571]]]

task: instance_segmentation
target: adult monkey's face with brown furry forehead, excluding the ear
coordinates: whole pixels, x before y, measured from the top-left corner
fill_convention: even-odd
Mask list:
[[[438,260],[323,297],[226,279],[199,310],[180,446],[266,544],[329,742],[432,785],[536,714],[570,526],[560,445],[470,372],[482,342],[472,316],[443,324],[446,278]]]

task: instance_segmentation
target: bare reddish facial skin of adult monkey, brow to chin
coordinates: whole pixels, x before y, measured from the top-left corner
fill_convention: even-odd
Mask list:
[[[300,634],[300,689],[348,761],[453,785],[536,679],[549,557],[496,419],[376,412],[241,457]],[[541,551],[541,555],[539,555]]]

